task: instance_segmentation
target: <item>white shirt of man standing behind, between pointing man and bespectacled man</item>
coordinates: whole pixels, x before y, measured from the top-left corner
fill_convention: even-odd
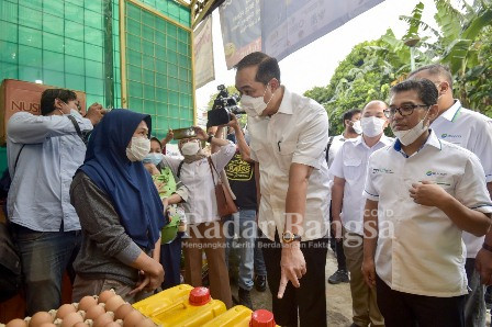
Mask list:
[[[347,139],[329,167],[329,174],[345,179],[340,218],[345,229],[351,233],[364,235],[366,199],[362,198],[362,191],[369,156],[392,142],[392,138],[382,135],[377,144],[368,147],[362,136]]]

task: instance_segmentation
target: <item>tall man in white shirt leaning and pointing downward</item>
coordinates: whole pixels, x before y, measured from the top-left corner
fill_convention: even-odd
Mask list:
[[[258,225],[275,319],[298,326],[299,311],[301,326],[326,326],[326,111],[281,86],[272,57],[253,53],[236,69],[259,172]]]

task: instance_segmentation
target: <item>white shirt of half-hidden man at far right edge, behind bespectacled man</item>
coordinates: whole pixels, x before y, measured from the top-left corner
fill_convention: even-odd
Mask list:
[[[459,145],[479,157],[487,182],[492,182],[492,119],[461,106],[459,100],[431,125],[438,138]],[[463,232],[467,257],[477,257],[484,236]]]

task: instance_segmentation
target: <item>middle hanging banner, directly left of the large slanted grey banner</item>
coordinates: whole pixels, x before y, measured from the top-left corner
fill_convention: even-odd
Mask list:
[[[260,8],[260,0],[225,0],[219,8],[227,69],[261,50]]]

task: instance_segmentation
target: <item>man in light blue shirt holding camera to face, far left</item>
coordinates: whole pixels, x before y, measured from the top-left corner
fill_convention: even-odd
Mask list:
[[[71,179],[86,157],[81,132],[92,131],[104,112],[94,103],[83,117],[75,92],[47,89],[41,95],[40,116],[18,112],[8,122],[12,184],[7,210],[21,255],[30,316],[62,304],[62,275],[71,270],[81,241],[69,196]]]

